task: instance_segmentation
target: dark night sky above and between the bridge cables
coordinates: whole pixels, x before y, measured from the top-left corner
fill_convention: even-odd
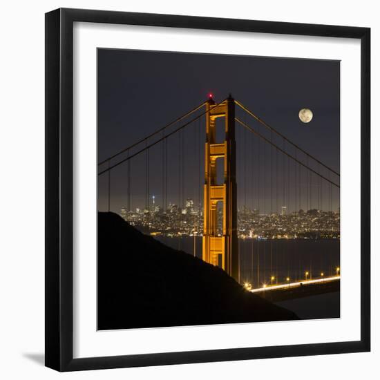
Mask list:
[[[339,67],[339,61],[314,59],[99,49],[98,160],[100,162],[108,158],[113,153],[189,111],[207,99],[207,94],[211,92],[214,94],[216,102],[225,99],[231,93],[235,99],[245,104],[256,115],[287,136],[289,140],[319,158],[327,166],[339,171]],[[314,113],[313,120],[309,124],[303,124],[298,119],[298,111],[304,107],[312,109]],[[253,122],[249,122],[249,124],[258,127]],[[203,129],[204,127],[202,132]],[[238,159],[244,152],[245,154],[249,152],[249,157],[254,160],[256,157],[254,149],[257,145],[253,140],[247,142],[246,135],[241,134],[243,131],[238,132],[240,129],[236,126]],[[263,129],[261,131],[263,132]],[[193,132],[190,130],[187,133]],[[196,177],[198,182],[198,173],[201,175],[201,171],[198,170],[198,158],[194,158],[193,155],[193,150],[196,149],[194,146],[196,137],[191,136],[194,135],[184,135],[184,139],[187,140],[185,146],[188,150],[184,153],[187,157],[186,162],[189,162],[186,164],[189,169],[184,180],[184,187],[193,189],[194,178]],[[269,135],[267,137],[269,138]],[[193,140],[191,140],[192,138]],[[202,135],[200,138],[204,141]],[[175,140],[170,143],[173,151],[178,149],[174,146],[177,142],[178,140]],[[243,142],[245,146],[243,146]],[[280,144],[279,141],[277,142]],[[264,149],[263,146],[258,149],[260,148]],[[160,148],[157,147],[157,149]],[[201,146],[201,153],[203,153],[203,146]],[[261,162],[262,172],[263,168],[266,168],[266,172],[270,169],[268,167],[269,156],[268,153],[265,154],[264,166],[263,161]],[[160,175],[158,175],[158,172],[161,171],[159,157],[158,151],[156,153],[152,151],[149,161],[150,173],[152,173],[149,194],[154,193],[158,202],[160,202],[160,198],[162,199],[162,186]],[[276,160],[275,158],[276,152],[274,151],[272,160]],[[169,153],[169,160],[171,164],[175,165],[178,155]],[[203,158],[201,158],[201,162],[202,160]],[[286,181],[281,170],[281,167],[284,168],[281,160],[282,158],[280,158],[278,168],[273,169],[272,181],[277,181],[276,184],[278,181]],[[135,194],[132,196],[132,205],[133,207],[144,207],[144,203],[142,203],[144,198],[142,193],[145,191],[144,181],[137,178],[139,175],[142,177],[144,173],[144,160],[136,159],[131,164],[135,168],[133,169],[135,177],[132,178],[132,194]],[[284,165],[286,166],[286,162]],[[255,168],[258,168],[257,162],[248,168],[238,167],[238,187],[240,189],[238,202],[241,205],[244,196],[253,206],[255,202],[258,202],[261,211],[263,207],[269,208],[269,203],[263,205],[263,194],[267,193],[269,182],[268,175],[265,180],[260,180]],[[178,183],[178,171],[174,167],[172,169],[168,203],[170,201],[178,202],[178,198],[175,198],[178,193],[178,187],[175,189],[175,184]],[[120,211],[120,207],[125,205],[125,173],[126,167],[121,165],[111,174],[111,209],[113,211]],[[252,174],[248,175],[249,173]],[[258,178],[256,182],[265,183],[262,185],[262,189],[255,190],[255,178]],[[245,181],[244,195],[241,192],[243,180]],[[336,179],[336,182],[338,180]],[[188,182],[186,183],[186,181]],[[274,182],[272,182],[272,187]],[[294,182],[292,173],[289,182]],[[281,184],[278,185],[278,189],[280,188]],[[278,193],[277,188],[275,191]],[[326,191],[323,191],[323,198],[326,197]],[[196,193],[194,189],[193,193]],[[289,194],[284,196],[289,198],[285,202],[288,209],[296,208],[294,205],[296,200],[291,199],[291,194],[292,189],[289,190]],[[105,207],[106,196],[106,175],[102,175],[102,178],[99,178],[99,209]],[[189,194],[185,194],[185,198],[187,197],[196,198],[196,195],[190,191]],[[332,208],[336,209],[339,206],[339,192],[334,191],[332,198]],[[327,205],[326,202],[325,205]],[[303,205],[301,204],[301,206]]]

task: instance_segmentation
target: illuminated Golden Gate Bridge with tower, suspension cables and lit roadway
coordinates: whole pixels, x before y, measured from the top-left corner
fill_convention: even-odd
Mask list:
[[[139,169],[133,173],[137,161]],[[288,268],[287,275],[278,284],[278,263],[272,254],[278,251],[276,239],[289,238],[289,228],[281,227],[278,221],[294,216],[294,231],[290,234],[294,238],[297,231],[298,235],[302,231],[304,236],[312,230],[299,218],[303,208],[314,210],[314,214],[311,213],[314,220],[322,218],[323,209],[331,216],[332,205],[339,200],[339,172],[289,140],[231,95],[217,103],[210,94],[207,101],[99,162],[99,183],[102,182],[106,192],[106,205],[98,205],[99,209],[113,209],[113,187],[120,186],[113,175],[126,179],[122,198],[127,215],[133,206],[144,203],[138,222],[151,229],[151,234],[157,234],[157,229],[168,233],[164,222],[154,225],[151,220],[150,210],[158,207],[154,194],[160,193],[162,220],[168,220],[167,213],[173,211],[168,208],[168,194],[174,198],[175,193],[179,209],[178,236],[183,236],[181,231],[189,231],[188,235],[193,236],[194,256],[198,256],[200,250],[196,238],[202,237],[202,260],[218,265],[246,287],[250,288],[255,282],[257,291],[267,285],[281,288],[301,281],[319,283],[319,280],[340,276],[339,266],[332,269],[330,265],[329,273],[320,270],[315,276],[314,271],[313,278],[310,261],[305,271],[300,264],[298,278],[291,277]],[[135,186],[138,180],[143,183]],[[137,193],[133,187],[139,189]],[[184,202],[193,199],[197,207],[189,216],[184,212],[187,211]],[[170,202],[169,206],[173,204]],[[262,215],[265,222],[249,227],[247,219],[258,215]],[[319,227],[314,227],[320,236],[331,237],[330,219],[325,220],[325,225],[320,220]],[[307,223],[311,223],[310,220]],[[249,274],[245,270],[242,275],[240,252],[247,238],[252,240],[248,254],[251,263],[245,267],[251,270]],[[256,247],[253,239],[257,241]],[[264,241],[260,247],[260,240],[267,239],[269,243]],[[257,256],[255,268],[254,256]],[[266,263],[267,256],[269,263]],[[262,258],[264,274],[261,275],[263,287],[260,287]],[[269,267],[268,273],[266,267]]]

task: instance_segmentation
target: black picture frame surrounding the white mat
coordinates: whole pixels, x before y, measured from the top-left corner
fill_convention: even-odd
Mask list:
[[[361,41],[361,339],[73,359],[73,23],[344,37]],[[100,10],[46,13],[46,366],[58,371],[370,351],[370,28]]]

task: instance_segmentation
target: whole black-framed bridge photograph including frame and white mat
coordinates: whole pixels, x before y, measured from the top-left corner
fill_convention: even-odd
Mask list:
[[[46,365],[370,350],[370,29],[46,14]]]

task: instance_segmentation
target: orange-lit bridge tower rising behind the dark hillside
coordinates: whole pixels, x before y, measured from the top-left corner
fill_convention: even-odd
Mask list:
[[[238,281],[236,196],[235,101],[231,95],[216,104],[206,102],[205,187],[202,258],[218,265]],[[216,142],[216,120],[225,119],[225,140]],[[223,160],[218,160],[223,158]],[[224,182],[218,184],[217,165],[224,166]],[[222,203],[222,231],[218,231],[218,204]],[[220,233],[221,232],[221,233]]]

